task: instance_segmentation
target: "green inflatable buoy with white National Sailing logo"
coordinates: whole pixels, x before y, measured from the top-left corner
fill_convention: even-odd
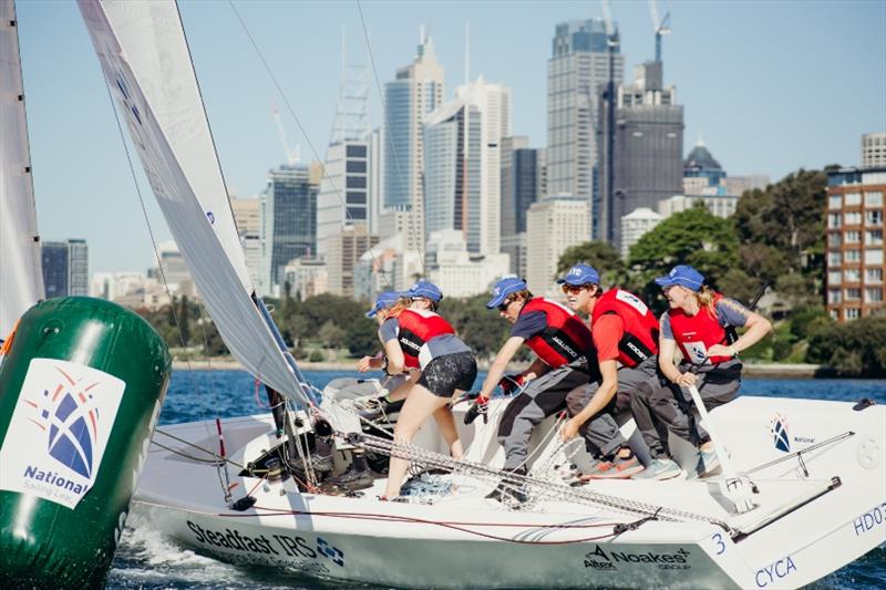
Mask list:
[[[101,587],[166,394],[168,349],[136,313],[69,297],[22,315],[0,362],[1,586]]]

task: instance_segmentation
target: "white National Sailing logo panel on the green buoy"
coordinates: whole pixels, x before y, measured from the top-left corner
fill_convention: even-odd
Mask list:
[[[95,483],[125,386],[90,366],[32,360],[0,448],[0,489],[76,507]]]

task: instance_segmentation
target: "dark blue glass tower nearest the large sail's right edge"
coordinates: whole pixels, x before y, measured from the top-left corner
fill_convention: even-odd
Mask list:
[[[262,294],[279,294],[282,268],[317,252],[317,193],[308,166],[282,165],[268,173],[260,206]]]

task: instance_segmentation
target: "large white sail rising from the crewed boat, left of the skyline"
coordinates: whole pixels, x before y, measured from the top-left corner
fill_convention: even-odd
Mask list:
[[[308,402],[251,299],[176,4],[78,3],[161,210],[225,344],[264,383]]]

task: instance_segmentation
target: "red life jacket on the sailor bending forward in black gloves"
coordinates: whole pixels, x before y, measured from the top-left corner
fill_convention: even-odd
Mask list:
[[[549,299],[536,297],[523,306],[521,314],[542,311],[547,315],[547,328],[526,341],[552,369],[575,361],[587,360],[593,349],[590,331],[581,319],[570,310]]]

